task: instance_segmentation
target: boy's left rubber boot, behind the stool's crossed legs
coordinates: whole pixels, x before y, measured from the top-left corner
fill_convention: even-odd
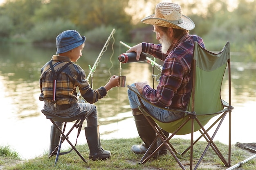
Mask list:
[[[62,129],[63,123],[62,122],[55,122],[58,127],[60,129]],[[50,134],[50,147],[49,147],[49,155],[50,156],[52,154],[52,152],[54,151],[54,149],[58,146],[59,142],[60,142],[60,136],[61,133],[57,130],[57,128],[52,125],[51,126],[51,134]],[[54,153],[54,155],[56,155],[57,152]]]

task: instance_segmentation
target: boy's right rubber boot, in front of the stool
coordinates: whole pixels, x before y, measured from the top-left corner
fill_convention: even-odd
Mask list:
[[[101,139],[99,137],[99,125],[85,127],[85,137],[90,149],[89,159],[93,161],[97,159],[105,160],[110,158],[111,153],[101,147]]]

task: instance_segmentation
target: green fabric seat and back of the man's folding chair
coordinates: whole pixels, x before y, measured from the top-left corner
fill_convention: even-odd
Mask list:
[[[197,42],[194,46],[193,59],[196,61],[195,66],[195,104],[194,110],[198,119],[203,124],[207,124],[211,118],[222,113],[223,105],[220,96],[222,78],[224,76],[227,60],[230,59],[229,42],[221,52],[215,54],[202,48]],[[191,94],[192,95],[192,94]],[[192,98],[188,105],[187,111],[192,111]],[[170,124],[159,122],[154,119],[159,126],[173,133],[183,122],[188,119],[189,115],[171,122]],[[191,121],[190,121],[191,122]],[[198,131],[200,126],[195,123],[194,132]],[[176,133],[176,135],[185,135],[191,133],[190,124],[186,124]]]

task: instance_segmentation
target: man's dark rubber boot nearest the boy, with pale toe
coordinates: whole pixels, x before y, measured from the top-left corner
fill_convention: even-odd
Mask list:
[[[148,147],[153,143],[156,137],[156,133],[139,109],[132,109],[132,114],[134,116],[135,125],[137,127],[139,137],[144,143],[142,143],[141,145],[132,145],[131,150],[134,153],[142,154],[145,153]],[[152,152],[156,148],[157,142],[155,143],[155,146],[153,146]],[[155,155],[158,155],[158,153],[156,153]]]

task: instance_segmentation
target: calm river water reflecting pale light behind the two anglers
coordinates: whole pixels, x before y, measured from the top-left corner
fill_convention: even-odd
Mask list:
[[[99,60],[91,85],[94,89],[105,85],[110,75],[119,75],[119,54],[127,49],[117,48],[114,53],[108,48]],[[40,94],[40,68],[55,54],[55,48],[33,46],[0,46],[0,146],[10,146],[22,159],[43,155],[49,148],[51,122],[41,113],[43,102]],[[79,64],[90,72],[101,49],[84,49]],[[232,81],[232,144],[256,142],[256,63],[244,61],[242,56],[231,57]],[[161,64],[160,61],[156,61]],[[127,76],[126,85],[148,81],[156,87],[151,77],[152,67],[146,62],[122,64],[122,76]],[[156,68],[154,74],[160,72]],[[227,78],[222,85],[222,98],[227,100]],[[137,130],[130,111],[127,87],[115,87],[105,98],[95,103],[99,116],[101,139],[137,137]],[[228,119],[227,119],[228,120]],[[227,144],[228,122],[224,121],[215,139]],[[72,124],[72,123],[70,123]],[[86,121],[84,122],[86,126]],[[70,140],[75,143],[75,130]],[[196,133],[197,135],[197,133]],[[188,135],[178,136],[189,139]],[[85,144],[84,129],[78,144]],[[64,147],[68,147],[64,143]],[[107,148],[106,148],[107,149]]]

